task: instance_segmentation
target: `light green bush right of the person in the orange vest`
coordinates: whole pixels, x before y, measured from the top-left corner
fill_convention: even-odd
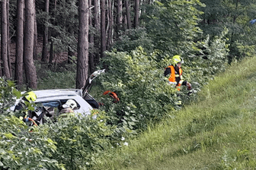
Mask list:
[[[225,38],[227,33],[228,30],[226,29],[220,36],[214,36],[210,40],[208,35],[203,41],[197,42],[197,47],[194,52],[191,52],[192,55],[188,56],[186,64],[186,66],[190,67],[189,70],[194,71],[194,74],[197,72],[196,77],[193,77],[193,79],[200,78],[208,82],[207,79],[212,78],[214,74],[225,71],[227,55],[229,55],[229,46],[226,44],[227,39]],[[199,76],[198,74],[201,75]],[[200,83],[205,84],[202,81]]]

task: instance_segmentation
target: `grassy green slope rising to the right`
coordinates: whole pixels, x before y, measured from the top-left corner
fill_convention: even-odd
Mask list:
[[[256,58],[232,65],[199,95],[94,168],[254,169]]]

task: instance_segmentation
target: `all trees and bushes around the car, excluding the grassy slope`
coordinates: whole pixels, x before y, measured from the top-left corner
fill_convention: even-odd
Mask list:
[[[184,79],[196,91],[229,63],[255,55],[255,25],[250,23],[255,1],[2,0],[1,5],[4,168],[93,168],[123,138],[137,137],[174,115],[177,92],[163,76],[173,55],[184,58]],[[42,52],[36,50],[39,39]],[[68,60],[56,63],[61,53]],[[8,111],[19,95],[16,84],[21,89],[81,88],[98,68],[107,68],[99,77],[103,89],[117,92],[121,102],[105,99],[97,120],[70,116],[29,133],[31,127]],[[180,94],[184,105],[197,100],[184,89]]]

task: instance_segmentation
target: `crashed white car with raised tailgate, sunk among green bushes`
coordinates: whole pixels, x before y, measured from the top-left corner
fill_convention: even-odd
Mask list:
[[[92,109],[98,109],[98,102],[88,93],[92,80],[98,77],[105,70],[94,71],[90,77],[86,80],[85,87],[82,89],[56,89],[56,90],[34,90],[33,92],[37,95],[35,102],[36,105],[41,105],[43,107],[37,106],[34,110],[36,115],[32,118],[34,120],[40,121],[43,124],[43,108],[48,112],[48,117],[54,115],[55,112],[59,112],[62,105],[66,103],[68,99],[73,99],[77,107],[73,109],[75,113],[81,113],[83,115],[90,115]],[[25,92],[23,92],[25,93]],[[18,104],[20,99],[18,99],[15,105]],[[11,107],[14,111],[15,105]]]

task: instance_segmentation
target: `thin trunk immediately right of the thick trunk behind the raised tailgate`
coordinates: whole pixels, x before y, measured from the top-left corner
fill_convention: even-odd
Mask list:
[[[91,1],[92,0],[89,0],[89,8],[91,7]],[[91,10],[89,11],[89,26],[90,27],[93,27],[92,26],[92,12]],[[89,44],[91,46],[92,49],[94,49],[94,33],[93,31],[90,31],[89,30]],[[94,50],[91,50],[91,52],[89,52],[89,65],[90,65],[90,73],[92,73],[94,71]]]

